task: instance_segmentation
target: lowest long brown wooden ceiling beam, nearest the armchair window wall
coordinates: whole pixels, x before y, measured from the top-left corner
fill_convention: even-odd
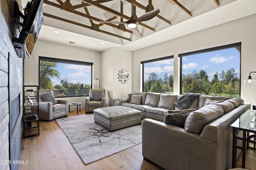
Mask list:
[[[46,17],[50,17],[50,18],[53,18],[53,19],[56,19],[56,20],[60,20],[60,21],[64,21],[64,22],[68,22],[68,23],[72,23],[74,25],[78,25],[78,26],[81,26],[81,27],[85,27],[85,28],[88,28],[88,29],[92,29],[92,27],[88,26],[88,25],[84,25],[82,23],[78,23],[78,22],[75,22],[75,21],[70,21],[70,20],[67,20],[67,19],[64,19],[64,18],[60,18],[60,17],[57,17],[57,16],[53,16],[51,14],[47,14],[47,13],[44,13],[44,16]],[[116,35],[114,33],[110,33],[108,31],[104,31],[104,30],[98,30],[99,32],[102,32],[102,33],[106,33],[108,35],[112,35],[114,37],[118,37],[118,38],[122,38],[122,39],[125,39],[127,41],[132,41],[130,38],[126,38],[126,37],[123,37],[123,36],[120,36],[120,35]]]

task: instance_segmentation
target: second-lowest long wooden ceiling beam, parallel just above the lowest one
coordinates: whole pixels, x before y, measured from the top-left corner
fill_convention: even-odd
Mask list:
[[[44,0],[44,4],[48,4],[48,5],[50,5],[50,6],[54,6],[54,7],[56,7],[56,8],[60,8],[61,9],[61,5],[59,5],[59,4],[55,4],[54,2],[50,2],[50,1],[48,1],[48,0]],[[93,16],[89,16],[89,15],[87,15],[87,14],[84,14],[84,13],[82,13],[82,12],[78,12],[78,11],[76,11],[76,10],[74,10],[74,14],[77,14],[77,15],[79,15],[79,16],[82,16],[82,17],[85,17],[85,18],[88,18],[89,20],[94,20],[94,21],[102,21],[102,20],[100,20],[100,19],[98,19],[98,18],[95,18],[95,17],[93,17]],[[115,16],[116,17],[116,16]],[[113,19],[114,20],[114,19]],[[105,23],[106,24],[106,23]],[[118,26],[117,25],[115,25],[115,24],[112,24],[112,23],[108,23],[107,25],[110,25],[111,27],[114,27],[114,28],[116,28],[116,29],[118,29]],[[101,23],[98,25],[98,26],[101,26]],[[132,31],[131,30],[126,30],[128,33],[131,33],[132,34]]]

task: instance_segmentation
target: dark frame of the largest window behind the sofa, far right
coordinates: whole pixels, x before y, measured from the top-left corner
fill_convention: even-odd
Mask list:
[[[239,97],[241,96],[241,50],[242,50],[242,42],[239,43],[233,43],[233,44],[228,44],[228,45],[222,45],[222,46],[218,46],[218,47],[212,47],[212,48],[208,48],[208,49],[202,49],[202,50],[198,50],[198,51],[192,51],[192,52],[188,52],[188,53],[182,53],[179,54],[178,57],[180,58],[180,94],[182,94],[182,57],[188,56],[188,55],[195,55],[195,54],[200,54],[200,53],[207,53],[207,52],[211,52],[211,51],[218,51],[218,50],[223,50],[223,49],[230,49],[230,48],[235,48],[235,47],[239,47],[240,48],[240,74],[239,74],[239,79],[240,79],[240,83],[239,83]]]

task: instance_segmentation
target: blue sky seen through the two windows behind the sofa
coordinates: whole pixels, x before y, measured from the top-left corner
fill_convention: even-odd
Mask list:
[[[148,79],[150,73],[154,72],[158,78],[163,78],[164,74],[173,74],[173,59],[157,61],[144,64],[144,80]],[[211,51],[182,57],[182,73],[190,74],[192,71],[205,70],[212,80],[216,71],[234,68],[239,78],[240,74],[240,52],[235,48]]]

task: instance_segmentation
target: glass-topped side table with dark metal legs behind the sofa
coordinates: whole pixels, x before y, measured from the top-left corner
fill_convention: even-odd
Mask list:
[[[253,149],[256,149],[256,110],[247,110],[240,115],[230,127],[233,128],[233,151],[232,151],[232,168],[236,168],[236,149],[242,150],[242,168],[245,168],[245,151],[249,148],[249,143],[253,143]],[[238,136],[241,131],[242,137]],[[242,141],[242,147],[237,145],[237,141]],[[246,146],[247,144],[247,146]]]

